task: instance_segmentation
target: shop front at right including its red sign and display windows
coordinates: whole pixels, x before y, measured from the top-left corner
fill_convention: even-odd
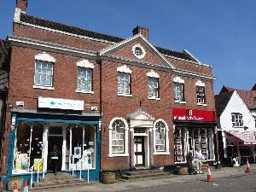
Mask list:
[[[186,156],[201,148],[203,161],[215,161],[216,118],[214,111],[199,109],[172,109],[174,126],[175,163],[186,163]]]

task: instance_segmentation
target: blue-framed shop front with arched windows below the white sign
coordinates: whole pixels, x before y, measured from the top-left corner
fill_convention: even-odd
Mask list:
[[[99,113],[13,110],[8,175],[29,181],[44,177],[53,171],[51,157],[53,149],[57,148],[58,172],[99,180],[100,122]]]

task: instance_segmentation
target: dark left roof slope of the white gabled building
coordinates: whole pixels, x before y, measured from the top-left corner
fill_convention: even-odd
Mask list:
[[[233,95],[233,92],[234,91],[229,91],[229,92],[225,92],[225,93],[214,96],[217,116],[220,116],[224,112],[224,109],[227,107],[228,103],[230,102],[230,98]]]

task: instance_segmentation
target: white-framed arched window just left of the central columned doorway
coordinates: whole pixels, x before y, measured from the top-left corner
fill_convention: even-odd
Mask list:
[[[114,118],[109,124],[109,156],[128,156],[128,124]]]

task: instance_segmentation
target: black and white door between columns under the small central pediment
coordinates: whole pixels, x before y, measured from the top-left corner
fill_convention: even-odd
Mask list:
[[[134,137],[135,166],[145,166],[144,137]]]

